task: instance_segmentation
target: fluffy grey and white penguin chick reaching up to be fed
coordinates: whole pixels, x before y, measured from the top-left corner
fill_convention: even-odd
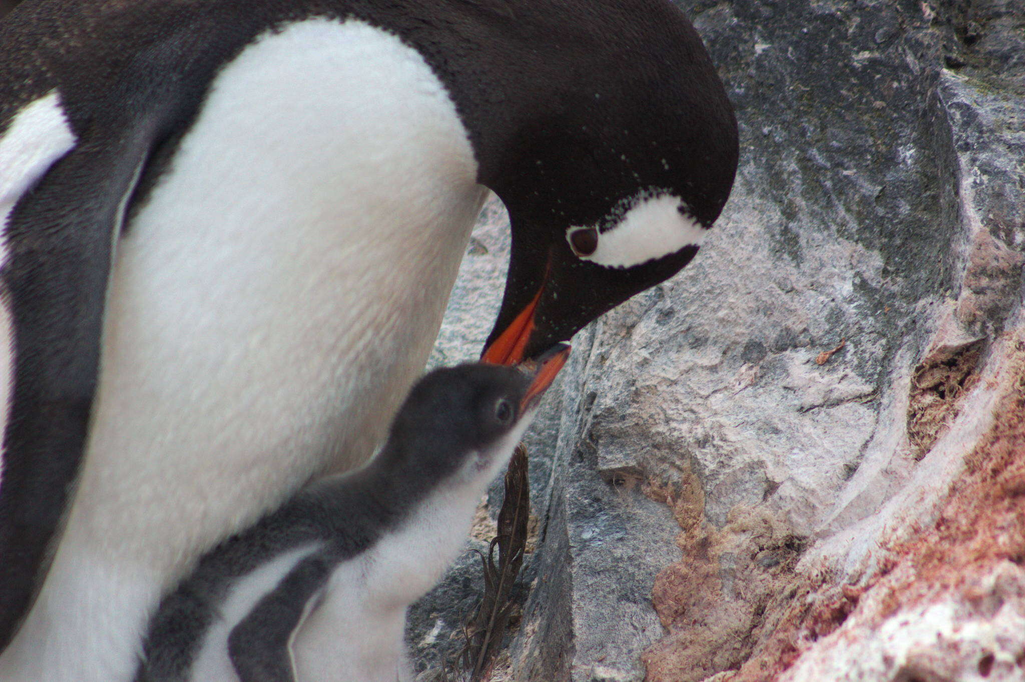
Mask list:
[[[406,609],[465,544],[567,350],[532,376],[463,365],[420,380],[370,464],[200,560],[153,617],[136,682],[411,682]]]

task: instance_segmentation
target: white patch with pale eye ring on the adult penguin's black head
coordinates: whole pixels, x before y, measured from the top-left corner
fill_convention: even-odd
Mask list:
[[[643,199],[626,211],[612,227],[598,235],[598,248],[590,254],[573,248],[574,232],[594,227],[570,227],[566,239],[581,260],[605,267],[632,267],[676,253],[686,246],[701,246],[705,228],[686,212],[672,195]],[[577,240],[579,242],[579,239]]]

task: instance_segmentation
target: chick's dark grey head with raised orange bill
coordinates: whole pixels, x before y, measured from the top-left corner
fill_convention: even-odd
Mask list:
[[[385,447],[398,460],[393,470],[489,482],[508,462],[568,352],[565,345],[552,348],[531,372],[474,364],[424,376],[393,423]]]

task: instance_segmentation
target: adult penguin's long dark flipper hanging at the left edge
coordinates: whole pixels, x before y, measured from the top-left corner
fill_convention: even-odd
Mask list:
[[[19,202],[0,273],[13,380],[0,482],[0,646],[28,612],[67,514],[96,390],[114,243],[148,145],[73,150]],[[86,178],[96,184],[86,185]],[[51,554],[51,553],[50,553]]]

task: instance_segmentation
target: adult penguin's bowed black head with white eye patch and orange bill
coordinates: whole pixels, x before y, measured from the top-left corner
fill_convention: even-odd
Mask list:
[[[486,361],[536,357],[679,271],[733,185],[736,120],[682,12],[658,0],[579,4],[587,16],[563,25],[558,68],[537,77],[543,101],[516,117],[500,162],[484,168],[512,224]]]

